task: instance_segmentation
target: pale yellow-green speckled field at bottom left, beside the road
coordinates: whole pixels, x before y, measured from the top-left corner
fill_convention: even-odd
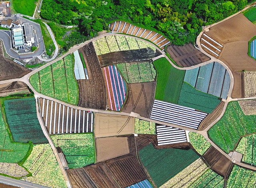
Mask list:
[[[32,176],[22,180],[52,188],[67,186],[50,144],[34,145],[23,166]]]

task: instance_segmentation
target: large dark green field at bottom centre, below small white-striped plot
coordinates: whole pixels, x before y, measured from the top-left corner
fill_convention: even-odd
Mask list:
[[[157,187],[199,158],[192,149],[156,149],[152,144],[140,150],[139,157]]]

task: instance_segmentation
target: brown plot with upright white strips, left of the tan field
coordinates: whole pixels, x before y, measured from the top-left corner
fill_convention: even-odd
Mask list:
[[[60,103],[40,98],[41,116],[51,134],[93,132],[93,113],[73,109]]]

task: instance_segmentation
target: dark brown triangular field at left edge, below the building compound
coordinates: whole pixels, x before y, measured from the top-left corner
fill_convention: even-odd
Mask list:
[[[4,58],[2,53],[2,46],[0,43],[0,81],[21,78],[30,72],[22,65],[15,63],[14,61]]]

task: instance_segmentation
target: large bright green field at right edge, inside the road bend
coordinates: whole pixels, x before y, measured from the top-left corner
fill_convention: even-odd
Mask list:
[[[244,115],[239,103],[231,101],[223,117],[208,131],[209,138],[226,153],[234,149],[239,138],[256,132],[256,115]]]

